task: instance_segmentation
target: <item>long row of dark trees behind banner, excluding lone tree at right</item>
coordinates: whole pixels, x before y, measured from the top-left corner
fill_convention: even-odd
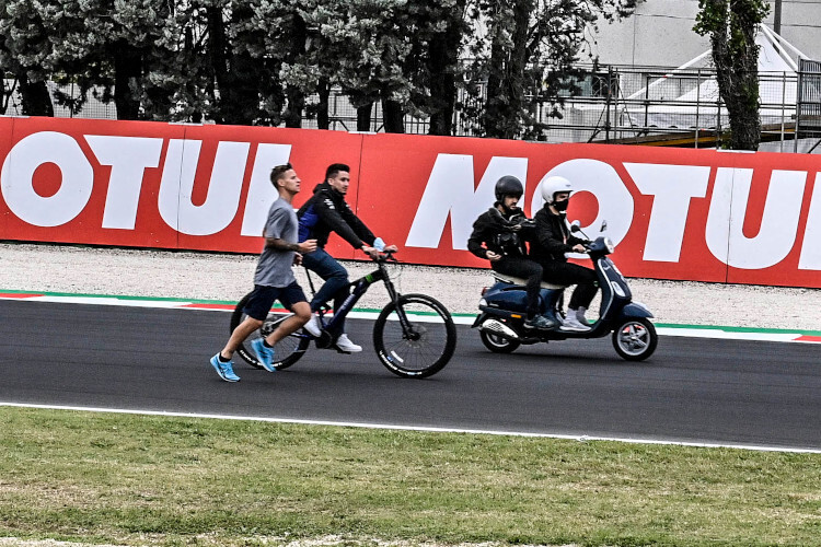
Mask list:
[[[410,114],[450,135],[462,107],[478,135],[536,138],[536,109],[557,116],[577,90],[585,28],[635,1],[0,0],[0,68],[21,89],[71,82],[59,104],[93,95],[127,119],[297,127],[307,109],[322,125],[338,86],[362,113],[381,103],[388,131]]]

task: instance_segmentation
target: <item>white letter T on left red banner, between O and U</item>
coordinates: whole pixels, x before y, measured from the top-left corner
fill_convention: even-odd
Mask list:
[[[142,176],[160,164],[162,139],[86,135],[85,140],[100,163],[112,166],[103,228],[134,230]]]

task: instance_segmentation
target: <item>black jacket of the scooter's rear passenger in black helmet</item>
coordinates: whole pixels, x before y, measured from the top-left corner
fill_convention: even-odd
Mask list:
[[[493,251],[499,255],[528,256],[525,242],[533,237],[533,224],[521,212],[504,216],[496,207],[479,214],[467,240],[467,251],[487,258]]]

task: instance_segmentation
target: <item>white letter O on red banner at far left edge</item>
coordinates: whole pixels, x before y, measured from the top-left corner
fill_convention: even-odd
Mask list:
[[[60,188],[49,197],[34,190],[34,172],[45,163],[59,167]],[[41,131],[20,140],[3,162],[5,205],[35,226],[59,226],[85,208],[94,187],[94,170],[77,141],[68,135]]]

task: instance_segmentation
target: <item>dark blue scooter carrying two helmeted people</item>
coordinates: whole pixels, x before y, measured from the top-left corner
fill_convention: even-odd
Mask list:
[[[605,229],[606,223],[602,224],[601,231]],[[574,222],[570,230],[581,232],[578,222]],[[510,353],[522,344],[601,338],[612,333],[613,347],[623,359],[641,361],[656,351],[658,335],[649,321],[652,313],[644,304],[633,301],[627,281],[608,258],[613,253],[613,242],[600,236],[585,247],[593,263],[602,291],[599,318],[590,325],[590,329],[563,330],[558,326],[562,324],[560,302],[566,287],[550,283],[542,283],[541,313],[555,318],[557,326],[552,329],[525,328],[527,280],[494,272],[497,281],[482,291],[481,313],[473,323],[487,349],[495,353]]]

